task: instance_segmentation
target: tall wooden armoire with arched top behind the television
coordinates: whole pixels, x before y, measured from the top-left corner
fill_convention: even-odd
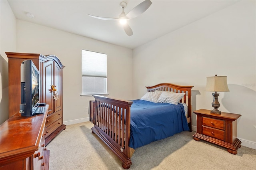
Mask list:
[[[55,55],[41,55],[38,53],[6,52],[9,72],[9,118],[20,111],[21,85],[20,65],[22,61],[30,59],[40,71],[40,103],[49,105],[45,124],[45,144],[66,128],[62,117],[62,65]],[[58,92],[58,99],[54,99],[52,85]]]

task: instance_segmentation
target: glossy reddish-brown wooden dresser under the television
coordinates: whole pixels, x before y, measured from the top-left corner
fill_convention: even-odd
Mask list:
[[[45,145],[45,113],[22,117],[16,112],[0,125],[1,170],[48,170],[50,151]]]

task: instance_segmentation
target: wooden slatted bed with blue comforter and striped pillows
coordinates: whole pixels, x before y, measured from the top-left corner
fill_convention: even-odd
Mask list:
[[[184,130],[191,131],[192,87],[160,83],[146,87],[147,93],[132,101],[93,95],[92,133],[118,156],[124,169],[129,169],[136,148]],[[163,97],[169,93],[182,97],[178,98],[178,103],[166,103]]]

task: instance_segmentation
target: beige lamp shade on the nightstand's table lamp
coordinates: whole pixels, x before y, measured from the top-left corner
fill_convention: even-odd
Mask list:
[[[206,77],[205,91],[229,91],[227,76]]]

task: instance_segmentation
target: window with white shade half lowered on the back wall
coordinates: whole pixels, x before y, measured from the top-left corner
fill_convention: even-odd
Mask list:
[[[107,55],[82,49],[82,95],[107,93]]]

